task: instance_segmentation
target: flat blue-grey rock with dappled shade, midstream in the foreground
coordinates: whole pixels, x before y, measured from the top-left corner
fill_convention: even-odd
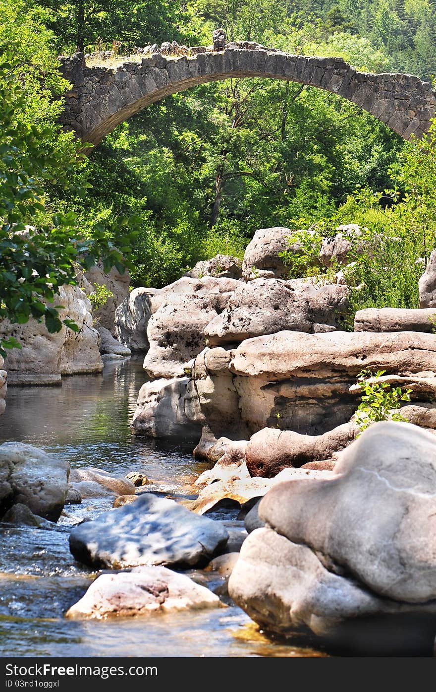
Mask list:
[[[193,567],[222,552],[228,538],[218,522],[173,500],[144,493],[133,504],[73,529],[70,550],[79,562],[92,567]]]

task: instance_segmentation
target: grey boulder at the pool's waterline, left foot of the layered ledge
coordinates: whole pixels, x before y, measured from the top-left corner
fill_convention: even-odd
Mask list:
[[[158,379],[142,385],[131,423],[133,435],[182,437],[193,442],[201,428],[185,412],[187,377]]]

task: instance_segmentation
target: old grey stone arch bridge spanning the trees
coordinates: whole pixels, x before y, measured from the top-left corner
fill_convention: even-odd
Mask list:
[[[164,96],[236,77],[287,80],[331,91],[405,139],[423,136],[436,111],[436,91],[412,75],[363,73],[337,57],[290,55],[249,42],[227,44],[222,37],[216,42],[216,32],[209,48],[148,46],[134,57],[117,59],[115,67],[87,66],[83,53],[60,60],[73,85],[66,95],[62,123],[94,145],[120,122]]]

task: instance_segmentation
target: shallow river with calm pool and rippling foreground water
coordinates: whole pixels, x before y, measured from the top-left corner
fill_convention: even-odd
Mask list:
[[[115,361],[102,375],[66,377],[61,387],[10,388],[0,419],[0,444],[22,441],[68,459],[72,468],[95,466],[117,474],[145,473],[151,489],[187,495],[209,468],[192,446],[132,437],[129,421],[144,382],[142,362]],[[111,507],[113,498],[65,508],[52,530],[0,525],[0,655],[33,657],[317,656],[295,642],[270,641],[232,603],[227,608],[107,621],[71,621],[64,612],[95,577],[68,549],[70,527]],[[193,573],[216,588],[220,579]]]

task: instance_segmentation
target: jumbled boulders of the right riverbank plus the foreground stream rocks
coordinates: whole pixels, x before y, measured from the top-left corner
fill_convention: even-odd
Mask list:
[[[133,441],[183,439],[207,462],[187,494],[162,493],[140,468],[70,470],[10,442],[0,446],[2,520],[46,530],[68,507],[111,500],[70,533],[73,558],[98,571],[68,605],[74,621],[232,599],[281,637],[297,632],[342,653],[430,655],[436,255],[420,309],[362,310],[350,332],[340,271],[323,284],[285,278],[289,233],[262,229],[242,263],[218,256],[164,289],[135,289],[113,325],[108,317],[111,330],[97,325],[99,358],[144,356]],[[320,262],[345,264],[347,253],[341,230]],[[368,383],[372,374],[407,392],[401,409],[364,431],[363,370]],[[205,569],[222,574],[214,593],[191,579]]]

